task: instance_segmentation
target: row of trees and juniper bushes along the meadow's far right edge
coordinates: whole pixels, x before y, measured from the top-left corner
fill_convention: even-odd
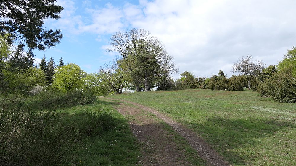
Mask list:
[[[195,77],[192,72],[181,73],[181,78],[167,81],[171,89],[202,88],[211,90],[242,91],[244,87],[258,91],[261,96],[272,97],[275,101],[284,103],[296,102],[296,47],[287,50],[283,60],[277,65],[265,67],[252,56],[242,57],[232,66],[230,78],[222,70],[212,74],[210,78]],[[166,89],[159,87],[161,90]]]

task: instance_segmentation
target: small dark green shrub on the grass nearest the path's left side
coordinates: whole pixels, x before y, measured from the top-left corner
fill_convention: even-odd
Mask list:
[[[82,133],[87,136],[95,136],[114,129],[115,120],[111,113],[86,111],[80,127]]]

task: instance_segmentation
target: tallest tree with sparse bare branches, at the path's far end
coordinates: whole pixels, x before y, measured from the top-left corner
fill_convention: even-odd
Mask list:
[[[164,45],[144,29],[115,33],[109,44],[107,51],[118,52],[122,57],[137,91],[142,82],[145,90],[150,91],[157,78],[178,71]]]

